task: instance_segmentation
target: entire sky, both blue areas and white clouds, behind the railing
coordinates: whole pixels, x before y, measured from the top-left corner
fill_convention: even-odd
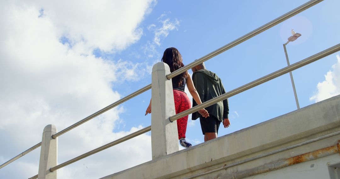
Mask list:
[[[0,163],[41,141],[47,124],[61,131],[150,84],[152,65],[166,48],[179,49],[189,64],[305,2],[4,1]],[[340,42],[339,7],[340,1],[325,0],[206,67],[231,91],[287,66],[283,43],[291,29],[302,34],[287,45],[291,64],[323,51]],[[293,71],[300,107],[340,94],[338,54]],[[151,90],[58,137],[58,163],[151,125],[151,115],[144,116],[150,97]],[[296,110],[289,74],[229,98],[229,109],[231,126],[220,127],[219,136]],[[186,136],[194,145],[203,142],[198,121],[189,119]],[[0,178],[36,175],[39,152],[0,169]],[[75,162],[58,177],[100,178],[149,160],[150,132]]]

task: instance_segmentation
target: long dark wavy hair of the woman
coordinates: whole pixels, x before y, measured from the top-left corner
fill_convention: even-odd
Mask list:
[[[182,55],[175,47],[165,49],[162,57],[162,62],[169,65],[170,72],[174,72],[184,66]],[[180,77],[178,81],[178,86],[181,86],[184,79],[187,79],[187,77],[189,76],[189,73],[185,71],[178,76]]]

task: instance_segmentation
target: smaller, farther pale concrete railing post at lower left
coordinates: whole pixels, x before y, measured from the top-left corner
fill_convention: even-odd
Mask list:
[[[52,135],[57,133],[57,128],[49,124],[44,128],[43,140],[41,141],[38,179],[56,179],[57,171],[50,172],[50,168],[57,165],[58,138]]]

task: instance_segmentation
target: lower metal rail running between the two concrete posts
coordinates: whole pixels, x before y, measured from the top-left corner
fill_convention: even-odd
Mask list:
[[[114,145],[117,145],[117,144],[122,143],[122,142],[124,142],[124,141],[127,141],[127,140],[129,140],[129,139],[132,139],[132,138],[134,138],[134,137],[136,137],[136,136],[139,136],[139,135],[141,135],[141,134],[147,133],[147,132],[149,132],[149,131],[151,131],[151,125],[148,126],[148,127],[143,128],[143,129],[141,129],[141,130],[139,130],[139,131],[136,131],[136,132],[134,132],[134,133],[132,133],[132,134],[129,134],[129,135],[127,135],[127,136],[124,136],[124,137],[122,137],[122,138],[120,138],[120,139],[117,139],[117,140],[115,140],[115,141],[113,141],[113,142],[110,142],[110,143],[107,143],[107,144],[105,144],[105,145],[103,145],[103,146],[100,146],[100,147],[98,147],[98,148],[96,148],[96,149],[94,149],[94,150],[92,150],[92,151],[90,151],[90,152],[87,152],[87,153],[85,153],[85,154],[82,154],[82,155],[80,155],[80,156],[78,156],[78,157],[75,157],[75,158],[69,160],[69,161],[66,161],[66,162],[61,163],[61,164],[59,164],[59,165],[57,165],[57,166],[54,166],[54,167],[50,168],[50,171],[51,171],[51,172],[56,171],[56,170],[58,170],[58,169],[60,169],[60,168],[62,168],[62,167],[64,167],[64,166],[67,166],[67,165],[73,163],[73,162],[76,162],[76,161],[78,161],[78,160],[81,160],[81,159],[83,159],[83,158],[85,158],[85,157],[88,157],[88,156],[93,155],[93,154],[95,154],[95,153],[97,153],[97,152],[100,152],[100,151],[102,151],[102,150],[105,150],[106,148],[112,147],[112,146],[114,146]],[[33,176],[33,177],[29,178],[29,179],[35,179],[35,178],[38,178],[38,175]]]

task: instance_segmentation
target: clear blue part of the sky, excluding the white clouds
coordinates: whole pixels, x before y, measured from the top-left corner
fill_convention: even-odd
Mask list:
[[[146,28],[150,24],[160,25],[157,18],[165,14],[170,21],[177,19],[180,25],[162,40],[157,51],[162,54],[167,47],[176,47],[183,56],[184,64],[200,58],[215,49],[251,32],[255,28],[289,12],[306,1],[256,1],[256,2],[198,2],[179,1],[177,3],[159,1],[142,22]],[[324,1],[287,21],[233,47],[223,54],[205,62],[209,70],[218,74],[227,91],[270,74],[287,66],[283,43],[291,36],[291,29],[302,36],[287,45],[290,63],[298,62],[328,47],[339,43],[340,18],[337,15],[339,1]],[[153,33],[146,31],[141,39],[116,54],[115,59],[129,59],[134,62],[159,60],[160,58],[135,59],[131,52],[141,53],[140,48],[152,41]],[[159,56],[158,56],[159,57]],[[316,93],[318,82],[337,62],[336,54],[330,55],[309,66],[293,72],[300,107],[314,103],[310,100]],[[191,73],[191,72],[190,72]],[[128,82],[115,88],[128,95],[149,84],[151,75],[137,82]],[[121,91],[120,91],[121,90]],[[130,128],[139,124],[151,124],[150,116],[143,116],[151,91],[132,99],[121,114],[123,120],[119,128]],[[142,102],[142,103],[141,103]],[[269,120],[296,110],[294,94],[289,74],[278,77],[229,99],[231,127],[220,128],[219,136]],[[190,121],[189,121],[190,122]],[[192,123],[191,123],[192,124]],[[199,122],[188,126],[187,138],[203,141]]]

